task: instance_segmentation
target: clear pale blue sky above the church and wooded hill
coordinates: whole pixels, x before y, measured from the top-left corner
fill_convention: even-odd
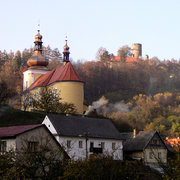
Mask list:
[[[43,45],[73,61],[96,60],[100,47],[142,44],[142,56],[180,59],[179,0],[0,0],[0,50],[33,47],[38,23]]]

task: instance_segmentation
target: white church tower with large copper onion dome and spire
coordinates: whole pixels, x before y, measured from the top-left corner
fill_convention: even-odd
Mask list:
[[[46,61],[42,54],[42,43],[42,35],[40,34],[40,30],[38,30],[34,41],[34,53],[27,61],[29,68],[23,73],[23,91],[28,89],[41,75],[48,72],[48,61]]]

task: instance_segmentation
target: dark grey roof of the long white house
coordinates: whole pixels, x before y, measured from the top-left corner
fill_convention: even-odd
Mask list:
[[[122,139],[110,119],[47,115],[59,136]]]

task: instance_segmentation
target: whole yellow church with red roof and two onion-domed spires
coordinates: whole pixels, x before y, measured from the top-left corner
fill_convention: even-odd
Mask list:
[[[32,57],[27,61],[28,70],[23,73],[23,94],[36,95],[43,87],[51,88],[54,94],[60,92],[62,102],[74,104],[77,114],[84,112],[84,81],[79,77],[69,60],[69,47],[63,51],[63,65],[51,71],[48,61],[43,56],[42,35],[38,30],[35,36],[35,47]]]

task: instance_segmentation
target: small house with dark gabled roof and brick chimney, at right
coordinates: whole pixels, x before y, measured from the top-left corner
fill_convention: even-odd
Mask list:
[[[158,167],[158,163],[167,163],[168,148],[157,131],[140,131],[136,133],[122,133],[126,141],[123,152],[126,157],[143,161],[151,167]]]

